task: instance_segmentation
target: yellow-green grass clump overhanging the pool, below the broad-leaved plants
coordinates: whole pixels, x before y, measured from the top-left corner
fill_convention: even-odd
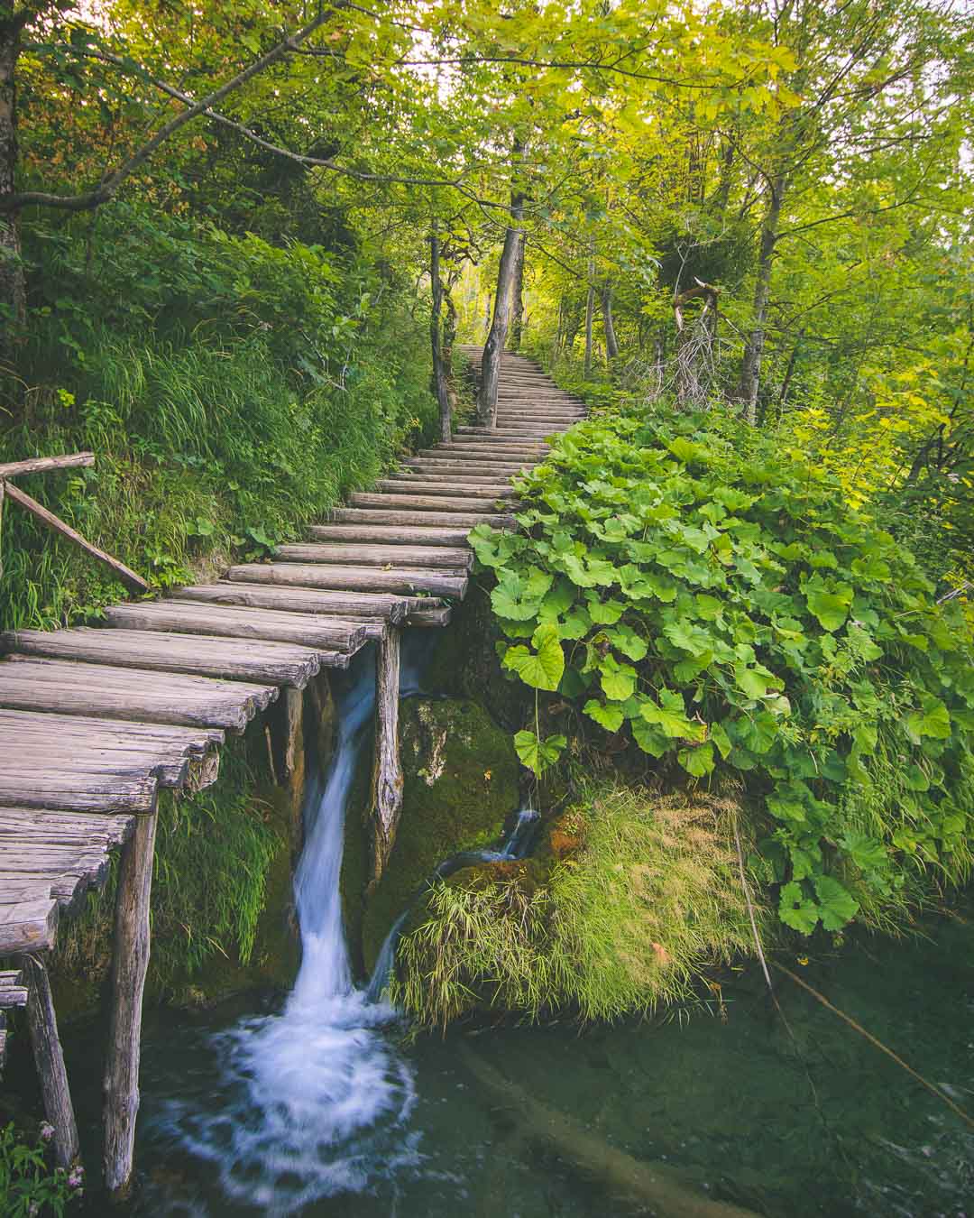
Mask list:
[[[556,829],[578,836],[577,854],[431,888],[399,946],[394,1000],[446,1027],[476,1006],[612,1019],[690,999],[701,970],[754,948],[738,815],[727,799],[587,792]]]

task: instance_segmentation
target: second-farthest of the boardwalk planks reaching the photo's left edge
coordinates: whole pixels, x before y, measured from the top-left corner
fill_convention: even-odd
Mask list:
[[[276,697],[274,686],[244,681],[18,655],[0,661],[0,706],[11,710],[242,732]]]

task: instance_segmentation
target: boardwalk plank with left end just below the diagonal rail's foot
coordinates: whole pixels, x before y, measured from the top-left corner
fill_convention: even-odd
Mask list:
[[[147,604],[110,605],[106,620],[123,630],[169,630],[261,642],[297,643],[319,650],[357,652],[364,639],[354,622],[325,615],[279,609],[200,605],[167,599]]]

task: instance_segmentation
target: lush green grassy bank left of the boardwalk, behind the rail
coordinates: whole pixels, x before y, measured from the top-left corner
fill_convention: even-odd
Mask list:
[[[140,203],[94,234],[32,229],[27,252],[32,389],[0,452],[94,449],[94,469],[24,488],[156,586],[265,555],[433,424],[425,335],[368,258]],[[122,592],[22,512],[4,514],[2,554],[5,627]]]

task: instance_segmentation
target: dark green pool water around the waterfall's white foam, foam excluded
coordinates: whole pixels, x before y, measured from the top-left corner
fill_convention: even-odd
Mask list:
[[[788,961],[970,1112],[973,910],[968,901],[930,920],[924,938],[863,938],[807,967]],[[130,1212],[670,1212],[625,1181],[620,1186],[611,1149],[644,1168],[676,1169],[696,1195],[769,1218],[974,1218],[974,1129],[790,980],[780,978],[778,988],[794,1040],[769,1009],[757,970],[722,982],[723,1010],[695,1011],[683,1022],[583,1032],[569,1024],[480,1026],[412,1046],[387,1029],[388,1060],[408,1080],[402,1102],[374,1125],[318,1146],[319,1180],[331,1183],[319,1184],[325,1191],[297,1208],[301,1164],[282,1158],[270,1200],[254,1203],[246,1164],[228,1192],[211,1157],[220,1138],[230,1145],[228,1114],[247,1121],[245,1080],[228,1075],[220,1037],[246,1037],[241,1017],[259,1024],[267,1013],[257,1004],[248,1011],[236,1004],[198,1018],[157,1015],[146,1027],[141,1191]],[[82,1118],[93,1134],[94,1069],[80,1045],[71,1056],[75,1088],[85,1091]],[[471,1061],[488,1063],[487,1083]],[[505,1096],[498,1083],[504,1079],[520,1093]],[[544,1111],[534,1107],[526,1117],[525,1093]],[[250,1119],[257,1127],[262,1118],[252,1112]],[[192,1149],[194,1129],[206,1130],[206,1156]],[[332,1170],[336,1164],[341,1170]],[[97,1199],[91,1209],[102,1212]]]

